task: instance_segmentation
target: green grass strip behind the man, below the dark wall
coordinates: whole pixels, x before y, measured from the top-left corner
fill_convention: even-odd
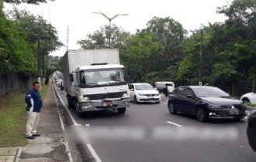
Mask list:
[[[42,86],[42,99],[48,86]],[[28,143],[26,133],[25,93],[0,97],[0,147],[24,146]]]

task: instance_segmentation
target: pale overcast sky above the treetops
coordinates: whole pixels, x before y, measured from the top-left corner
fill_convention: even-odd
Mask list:
[[[137,29],[145,29],[147,22],[154,16],[170,17],[180,22],[184,29],[199,29],[209,22],[223,22],[224,15],[217,14],[217,7],[229,5],[231,0],[55,0],[47,4],[16,6],[26,9],[34,15],[42,15],[57,29],[59,39],[64,47],[50,53],[52,56],[64,56],[66,49],[80,49],[78,40],[109,25],[109,20],[92,12],[102,12],[112,17],[112,24],[134,34]],[[5,11],[13,5],[4,4]],[[68,43],[67,43],[68,26]],[[66,47],[67,45],[67,47]]]

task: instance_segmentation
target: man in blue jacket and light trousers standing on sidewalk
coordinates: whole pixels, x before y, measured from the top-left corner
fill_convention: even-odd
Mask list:
[[[40,110],[43,105],[40,93],[38,90],[40,85],[38,82],[33,82],[33,89],[30,89],[26,93],[26,110],[28,114],[28,120],[26,123],[26,138],[32,140],[35,137],[40,137],[40,134],[36,133],[36,127],[40,119]]]

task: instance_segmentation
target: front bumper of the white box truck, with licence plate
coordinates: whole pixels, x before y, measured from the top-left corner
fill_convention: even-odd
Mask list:
[[[79,103],[80,112],[119,109],[123,107],[130,107],[129,98],[120,100],[91,100],[89,102]]]

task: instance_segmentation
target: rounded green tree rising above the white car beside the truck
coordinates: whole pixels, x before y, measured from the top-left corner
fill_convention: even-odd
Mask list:
[[[137,32],[128,40],[120,55],[126,67],[126,79],[130,82],[144,81],[148,73],[157,71],[157,60],[163,52],[164,46],[154,41],[152,34]]]

